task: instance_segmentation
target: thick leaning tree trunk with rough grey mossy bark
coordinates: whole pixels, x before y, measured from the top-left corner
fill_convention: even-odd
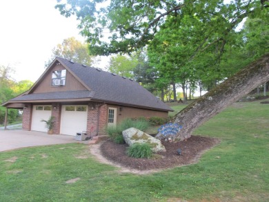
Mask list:
[[[269,54],[250,63],[176,114],[173,121],[182,125],[176,139],[180,141],[188,139],[199,125],[267,81],[269,81]]]

